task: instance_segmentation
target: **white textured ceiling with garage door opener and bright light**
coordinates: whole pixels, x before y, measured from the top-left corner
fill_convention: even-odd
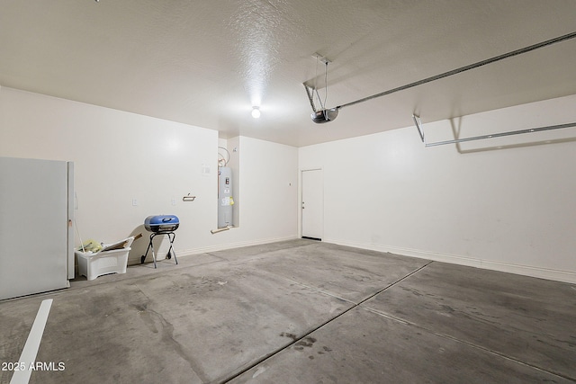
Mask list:
[[[335,107],[573,31],[573,0],[2,0],[0,85],[301,147],[576,94],[572,39],[315,124],[316,53]]]

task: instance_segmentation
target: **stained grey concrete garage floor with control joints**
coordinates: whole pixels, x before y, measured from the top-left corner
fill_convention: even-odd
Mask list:
[[[572,284],[308,240],[178,261],[0,301],[0,362],[53,299],[65,369],[31,383],[576,382]]]

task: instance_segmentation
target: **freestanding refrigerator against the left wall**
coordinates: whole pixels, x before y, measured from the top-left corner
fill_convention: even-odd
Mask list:
[[[0,299],[74,278],[74,163],[0,157]]]

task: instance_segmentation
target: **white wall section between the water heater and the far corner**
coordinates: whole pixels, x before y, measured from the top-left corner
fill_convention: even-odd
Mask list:
[[[249,238],[272,242],[297,237],[298,149],[246,137],[229,138],[226,145],[238,227],[214,237],[226,239],[228,246],[247,245]]]

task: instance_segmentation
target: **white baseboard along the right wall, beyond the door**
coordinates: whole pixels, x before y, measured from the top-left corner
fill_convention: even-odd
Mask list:
[[[459,255],[438,254],[435,252],[422,251],[419,249],[402,248],[398,246],[360,244],[346,241],[343,242],[332,239],[326,239],[325,241],[327,243],[337,244],[339,246],[353,246],[356,248],[369,249],[371,251],[390,252],[391,254],[395,255],[418,257],[420,259],[427,259],[435,262],[454,263],[458,265],[471,266],[491,271],[516,273],[524,276],[536,277],[539,279],[576,283],[576,272],[560,271],[560,270],[534,267],[521,264],[513,264],[513,263],[501,263],[489,260],[482,260],[473,257],[464,257]]]

